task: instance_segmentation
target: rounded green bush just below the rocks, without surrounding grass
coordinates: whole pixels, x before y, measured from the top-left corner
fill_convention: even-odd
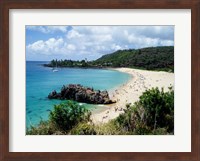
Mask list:
[[[61,131],[69,131],[80,122],[90,121],[91,112],[78,103],[68,101],[55,105],[50,112],[49,120]]]

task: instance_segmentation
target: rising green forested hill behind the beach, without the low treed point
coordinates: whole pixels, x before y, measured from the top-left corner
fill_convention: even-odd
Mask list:
[[[134,67],[147,70],[174,71],[174,47],[148,47],[142,49],[118,50],[92,63],[106,67]]]

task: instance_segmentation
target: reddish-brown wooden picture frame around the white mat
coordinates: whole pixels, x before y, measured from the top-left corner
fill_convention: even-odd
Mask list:
[[[191,152],[9,152],[9,9],[191,9]],[[0,160],[200,160],[200,0],[7,0],[0,24]]]

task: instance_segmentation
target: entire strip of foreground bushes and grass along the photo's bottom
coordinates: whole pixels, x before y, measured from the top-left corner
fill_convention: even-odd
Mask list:
[[[94,125],[91,113],[75,102],[55,105],[48,121],[27,129],[27,135],[167,135],[174,133],[174,90],[152,88],[108,123]]]

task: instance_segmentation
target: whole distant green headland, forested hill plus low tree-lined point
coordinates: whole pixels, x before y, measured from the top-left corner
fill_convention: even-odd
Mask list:
[[[148,47],[118,50],[94,61],[52,60],[46,67],[106,68],[130,67],[147,70],[174,71],[174,47]]]

